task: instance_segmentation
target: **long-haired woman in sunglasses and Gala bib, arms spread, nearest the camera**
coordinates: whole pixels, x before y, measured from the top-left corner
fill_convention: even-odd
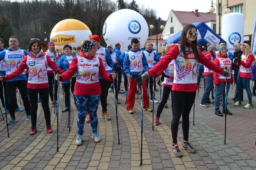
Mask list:
[[[197,91],[197,63],[202,63],[206,67],[230,76],[230,73],[223,68],[216,66],[197,47],[197,28],[192,25],[186,25],[181,33],[179,42],[172,45],[167,54],[151,69],[141,76],[145,80],[154,76],[161,69],[166,69],[169,63],[174,60],[174,81],[172,85],[172,97],[174,114],[172,118],[172,152],[177,157],[182,157],[177,144],[177,134],[179,119],[182,115],[183,145],[182,148],[190,153],[195,153],[195,148],[188,141],[189,134],[189,113],[194,104]]]

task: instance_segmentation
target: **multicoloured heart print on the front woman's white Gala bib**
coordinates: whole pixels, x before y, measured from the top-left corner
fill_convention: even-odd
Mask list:
[[[190,61],[184,60],[175,60],[175,65],[176,65],[176,77],[175,80],[176,82],[181,81],[182,79],[185,79],[185,77],[191,72],[192,70],[192,64]]]

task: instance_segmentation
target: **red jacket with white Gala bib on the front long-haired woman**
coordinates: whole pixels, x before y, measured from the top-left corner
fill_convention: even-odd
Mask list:
[[[192,43],[186,44],[187,59],[185,60],[180,51],[180,44],[172,45],[167,54],[152,68],[148,70],[150,76],[159,72],[159,69],[166,69],[168,64],[174,62],[174,81],[172,90],[179,92],[194,92],[197,90],[197,62],[195,59],[195,52],[192,50]],[[200,50],[199,60],[200,63],[212,70],[223,73],[223,68],[216,66],[208,60]]]

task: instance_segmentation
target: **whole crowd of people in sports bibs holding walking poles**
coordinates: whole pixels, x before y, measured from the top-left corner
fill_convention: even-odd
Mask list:
[[[61,81],[65,94],[65,107],[62,112],[71,109],[71,92],[78,110],[78,136],[75,144],[82,144],[85,122],[90,122],[94,141],[100,142],[97,116],[99,101],[102,118],[105,120],[111,120],[107,113],[108,92],[111,91],[126,95],[126,110],[129,114],[133,114],[136,93],[142,95],[143,110],[152,112],[149,101],[158,103],[154,95],[157,84],[163,88],[154,125],[160,125],[160,115],[163,108],[168,108],[167,99],[171,94],[171,150],[175,156],[182,157],[177,143],[178,125],[181,123],[184,139],[182,148],[195,153],[196,150],[188,139],[189,113],[194,104],[196,91],[203,88],[200,82],[202,77],[204,92],[200,106],[209,107],[208,105],[214,104],[217,116],[223,116],[222,113],[232,115],[227,108],[227,95],[233,82],[237,91],[234,106],[242,105],[243,88],[248,96],[245,109],[253,108],[252,96],[256,96],[256,64],[253,64],[254,56],[249,45],[234,44],[233,54],[227,51],[224,41],[220,42],[218,47],[210,44],[207,47],[198,47],[197,34],[194,25],[186,25],[179,42],[166,45],[162,55],[159,55],[150,42],[146,42],[144,48],[141,48],[136,38],[131,40],[126,51],[121,52],[119,42],[114,46],[108,44],[105,48],[100,45],[100,37],[93,35],[90,40],[82,41],[78,48],[72,48],[69,44],[64,45],[62,54],[55,49],[52,41],[48,42],[48,50],[43,52],[37,38],[30,40],[28,50],[19,48],[17,37],[10,37],[10,47],[7,49],[3,48],[4,41],[0,39],[0,60],[1,63],[5,63],[5,68],[0,70],[0,80],[3,81],[0,84],[4,86],[2,89],[6,90],[5,96],[1,92],[0,98],[5,113],[10,113],[7,124],[11,125],[17,121],[15,91],[18,88],[26,111],[26,120],[32,124],[30,135],[37,131],[38,93],[47,133],[52,133],[50,107],[56,107],[58,104],[58,81]],[[120,89],[122,75],[124,91]],[[159,82],[156,83],[156,78],[160,76]],[[249,87],[250,79],[254,81],[252,93]],[[210,100],[211,92],[214,101]],[[7,101],[5,103],[4,98]],[[116,102],[120,104],[118,99]]]

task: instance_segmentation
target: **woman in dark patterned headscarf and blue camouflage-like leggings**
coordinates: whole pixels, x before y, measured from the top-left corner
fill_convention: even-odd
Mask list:
[[[65,81],[70,79],[75,72],[77,73],[74,91],[78,110],[76,145],[82,145],[84,120],[87,112],[90,114],[92,138],[95,142],[100,142],[97,116],[101,94],[99,75],[107,81],[113,81],[116,78],[115,73],[106,72],[101,57],[95,56],[97,49],[94,42],[84,40],[81,42],[81,46],[83,49],[81,49],[79,56],[74,57],[69,69],[65,73],[55,76],[56,80]]]

